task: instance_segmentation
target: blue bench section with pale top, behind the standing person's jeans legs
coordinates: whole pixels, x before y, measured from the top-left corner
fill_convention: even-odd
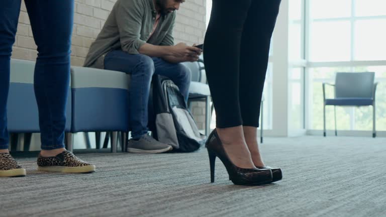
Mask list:
[[[39,133],[39,113],[34,92],[35,62],[11,59],[11,83],[7,102],[10,133]],[[71,127],[71,95],[66,106],[66,131]]]

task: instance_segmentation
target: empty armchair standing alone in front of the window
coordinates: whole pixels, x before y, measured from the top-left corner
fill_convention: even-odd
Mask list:
[[[375,132],[375,90],[374,72],[338,72],[335,84],[323,83],[323,136],[326,136],[326,105],[334,105],[335,136],[336,106],[369,106],[373,108],[372,137]],[[335,87],[334,98],[326,98],[325,86]]]

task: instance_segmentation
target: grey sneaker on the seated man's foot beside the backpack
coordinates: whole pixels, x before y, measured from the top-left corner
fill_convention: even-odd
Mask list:
[[[145,134],[138,141],[129,140],[127,152],[131,153],[162,153],[172,150],[170,145],[158,142],[153,137]]]

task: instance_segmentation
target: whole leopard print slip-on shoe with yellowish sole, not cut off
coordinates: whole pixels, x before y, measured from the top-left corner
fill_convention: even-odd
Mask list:
[[[69,151],[63,151],[55,157],[38,157],[38,170],[65,173],[89,173],[95,171],[95,165],[80,160]]]

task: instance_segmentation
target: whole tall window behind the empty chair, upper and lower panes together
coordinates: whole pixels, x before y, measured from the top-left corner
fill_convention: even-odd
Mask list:
[[[375,72],[376,129],[386,130],[386,1],[307,0],[309,128],[323,129],[322,82],[336,72]],[[327,97],[333,88],[327,87]],[[372,107],[337,107],[339,130],[372,129]],[[334,129],[334,107],[327,106],[327,129]]]

